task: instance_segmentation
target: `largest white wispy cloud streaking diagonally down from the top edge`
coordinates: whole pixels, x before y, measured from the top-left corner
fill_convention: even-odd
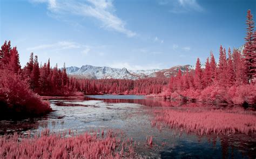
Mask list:
[[[114,14],[112,1],[108,0],[30,0],[36,3],[48,3],[48,10],[57,15],[72,14],[80,17],[93,17],[98,19],[103,28],[124,33],[127,37],[134,37],[135,32],[125,27],[126,23]],[[64,16],[65,17],[65,16]]]

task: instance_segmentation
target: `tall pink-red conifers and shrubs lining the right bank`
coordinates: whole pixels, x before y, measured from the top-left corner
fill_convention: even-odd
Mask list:
[[[243,54],[238,49],[226,49],[220,46],[218,66],[213,53],[211,60],[206,60],[205,68],[201,69],[200,60],[197,59],[196,69],[193,73],[180,73],[170,78],[169,90],[161,92],[164,98],[192,99],[215,103],[230,104],[256,104],[255,84],[256,60],[254,57],[255,31],[251,11],[247,11],[247,35]],[[193,79],[193,80],[191,80]],[[191,82],[192,81],[192,82]],[[185,82],[185,83],[184,83]]]

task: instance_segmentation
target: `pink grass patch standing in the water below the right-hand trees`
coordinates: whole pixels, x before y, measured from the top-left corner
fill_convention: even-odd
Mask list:
[[[230,110],[155,110],[152,126],[161,124],[181,131],[203,134],[250,134],[256,132],[256,116]]]

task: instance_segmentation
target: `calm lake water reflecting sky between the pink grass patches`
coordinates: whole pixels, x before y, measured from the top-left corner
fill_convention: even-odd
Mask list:
[[[86,96],[84,99],[50,100],[54,110],[45,117],[23,120],[0,120],[0,134],[32,133],[49,128],[52,131],[72,129],[83,133],[91,129],[122,129],[127,138],[140,145],[140,156],[151,158],[255,158],[256,135],[197,135],[178,129],[151,126],[154,109],[223,109],[205,104],[186,104],[145,99],[143,96]],[[173,107],[175,106],[175,107]],[[226,108],[228,109],[228,108]],[[153,136],[153,147],[146,137]],[[163,146],[163,143],[164,146]]]

